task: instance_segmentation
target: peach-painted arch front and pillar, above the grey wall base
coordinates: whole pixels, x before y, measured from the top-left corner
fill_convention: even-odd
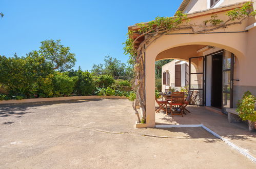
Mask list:
[[[219,13],[219,17],[226,20],[225,12]],[[191,19],[190,23],[202,23],[209,16],[202,16]],[[249,23],[255,22],[253,20],[245,20],[241,25],[231,26],[226,29],[219,29],[216,32],[221,31],[244,31]],[[175,33],[185,33],[188,30],[176,31]],[[146,122],[147,126],[155,126],[155,112],[154,112],[154,62],[156,59],[164,59],[165,56],[170,58],[169,52],[172,48],[180,47],[184,49],[186,45],[209,45],[215,46],[221,49],[225,49],[234,53],[237,56],[239,67],[237,67],[238,78],[240,81],[235,82],[234,85],[238,86],[256,86],[256,28],[244,33],[215,33],[215,34],[175,34],[164,35],[157,39],[154,43],[147,47],[146,50]],[[190,47],[189,47],[190,48]],[[173,51],[175,52],[175,51]],[[191,55],[189,51],[186,51],[187,55]],[[183,50],[180,50],[179,57],[187,59]],[[171,54],[171,53],[169,53]],[[195,54],[195,53],[193,53]],[[177,57],[177,58],[179,58]],[[186,57],[186,58],[185,58]]]

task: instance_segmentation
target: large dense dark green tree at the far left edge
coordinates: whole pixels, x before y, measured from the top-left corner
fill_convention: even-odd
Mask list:
[[[36,52],[35,52],[36,53]],[[13,94],[30,97],[38,77],[46,77],[52,72],[51,65],[37,54],[26,57],[0,56],[0,83]]]

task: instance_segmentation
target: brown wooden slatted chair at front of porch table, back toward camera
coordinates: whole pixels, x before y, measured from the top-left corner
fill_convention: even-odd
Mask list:
[[[168,102],[170,105],[170,112],[171,115],[181,115],[183,117],[184,112],[184,92],[173,92],[171,94],[171,101]],[[175,109],[173,111],[172,109]],[[174,112],[180,112],[180,113],[174,113]]]

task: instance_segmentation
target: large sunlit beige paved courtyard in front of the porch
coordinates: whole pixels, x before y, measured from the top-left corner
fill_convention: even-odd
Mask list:
[[[255,168],[202,128],[133,129],[135,120],[120,99],[1,105],[0,168]]]

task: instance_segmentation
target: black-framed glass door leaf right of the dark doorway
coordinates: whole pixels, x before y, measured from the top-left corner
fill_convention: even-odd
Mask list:
[[[227,114],[226,109],[233,107],[233,67],[234,54],[224,51],[222,69],[222,112]]]

